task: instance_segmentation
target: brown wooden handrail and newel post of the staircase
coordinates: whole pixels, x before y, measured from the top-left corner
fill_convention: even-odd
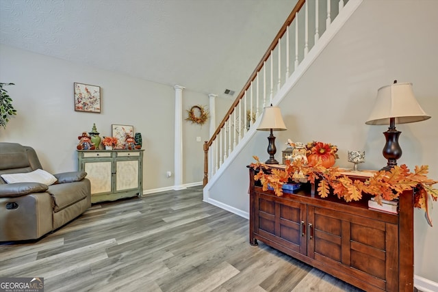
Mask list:
[[[233,104],[231,105],[229,110],[227,111],[227,114],[225,114],[224,118],[222,119],[222,122],[220,122],[220,124],[219,124],[218,128],[216,129],[216,131],[214,131],[214,134],[211,135],[210,140],[204,142],[204,145],[203,145],[203,150],[204,150],[204,178],[203,178],[203,185],[204,186],[207,185],[207,183],[208,183],[208,150],[209,150],[209,147],[211,146],[211,144],[213,144],[214,140],[216,140],[216,137],[220,133],[220,130],[222,129],[222,127],[224,127],[225,122],[227,122],[227,120],[229,119],[231,114],[233,114],[233,111],[235,110],[235,107],[239,104],[240,100],[244,97],[244,94],[245,94],[246,90],[248,90],[248,88],[250,87],[251,83],[257,77],[258,72],[260,72],[261,68],[263,68],[263,64],[269,59],[272,51],[277,46],[279,40],[283,37],[283,35],[287,31],[287,27],[289,27],[289,25],[292,23],[292,21],[294,21],[296,13],[298,11],[300,11],[300,9],[305,4],[305,2],[306,2],[306,0],[298,0],[298,2],[296,3],[294,9],[292,10],[292,12],[289,14],[289,16],[287,16],[287,19],[286,19],[285,23],[283,24],[283,26],[281,27],[279,32],[276,34],[274,40],[272,40],[269,48],[266,50],[266,53],[261,58],[259,64],[255,67],[255,69],[254,69],[253,73],[250,75],[248,81],[246,81],[246,84],[244,85],[244,87],[242,88],[240,93],[235,98],[235,101],[233,102]]]

